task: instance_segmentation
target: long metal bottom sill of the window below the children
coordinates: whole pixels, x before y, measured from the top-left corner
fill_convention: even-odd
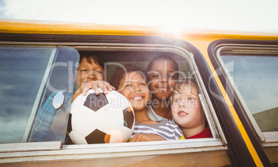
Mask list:
[[[21,149],[7,149],[16,146]],[[3,150],[1,150],[3,148]],[[0,164],[39,161],[73,161],[178,155],[184,153],[227,152],[221,139],[187,139],[179,141],[146,141],[119,144],[76,144],[62,145],[59,141],[0,144]],[[227,156],[228,154],[225,153]]]

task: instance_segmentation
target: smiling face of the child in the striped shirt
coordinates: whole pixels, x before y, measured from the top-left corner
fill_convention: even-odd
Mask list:
[[[128,72],[119,84],[119,92],[127,97],[134,111],[144,110],[149,101],[147,83],[138,72]]]

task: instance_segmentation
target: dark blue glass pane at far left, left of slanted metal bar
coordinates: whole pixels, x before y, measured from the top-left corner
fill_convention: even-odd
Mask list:
[[[0,48],[0,143],[21,142],[53,48]]]

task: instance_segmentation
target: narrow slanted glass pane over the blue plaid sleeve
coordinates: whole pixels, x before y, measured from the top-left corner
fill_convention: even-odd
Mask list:
[[[29,141],[65,140],[79,58],[73,48],[58,48]]]

